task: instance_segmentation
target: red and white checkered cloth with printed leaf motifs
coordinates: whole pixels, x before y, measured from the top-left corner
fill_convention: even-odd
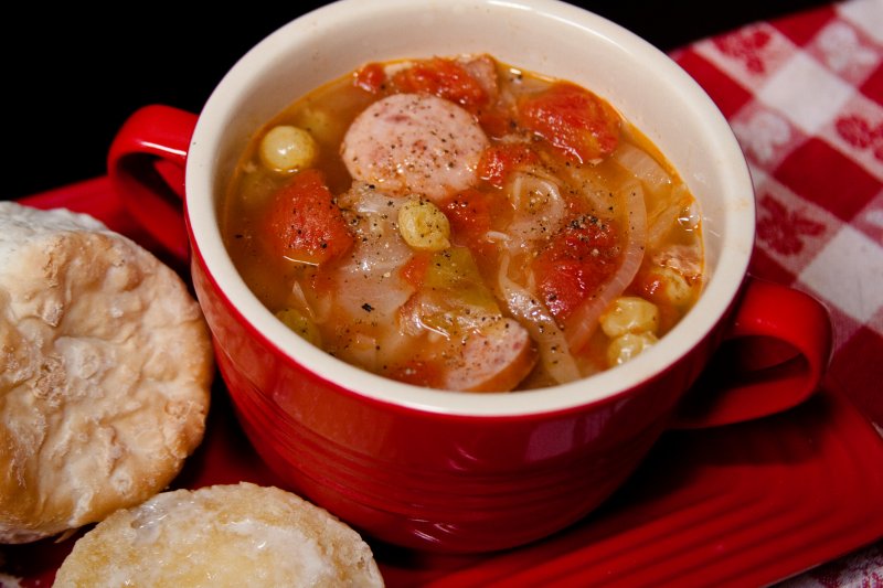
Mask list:
[[[883,0],[754,23],[671,56],[721,108],[748,160],[752,272],[828,306],[826,386],[883,430]],[[787,586],[883,587],[883,542]]]

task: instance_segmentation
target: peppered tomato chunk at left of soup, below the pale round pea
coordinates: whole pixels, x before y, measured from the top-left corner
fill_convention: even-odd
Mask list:
[[[325,178],[313,169],[273,194],[265,226],[264,238],[276,255],[308,264],[342,255],[353,243]]]

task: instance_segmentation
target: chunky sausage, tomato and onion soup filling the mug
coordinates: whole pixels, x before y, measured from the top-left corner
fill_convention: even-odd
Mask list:
[[[247,146],[225,244],[258,299],[394,379],[517,391],[656,344],[703,282],[698,205],[607,101],[490,55],[369,63]]]

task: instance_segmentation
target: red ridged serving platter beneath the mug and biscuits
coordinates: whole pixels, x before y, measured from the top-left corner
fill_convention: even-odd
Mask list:
[[[107,178],[21,202],[89,213],[162,257]],[[243,436],[220,377],[213,394],[205,439],[173,485],[276,483]],[[822,387],[774,417],[667,432],[607,503],[536,544],[456,556],[366,539],[390,587],[766,586],[883,537],[881,496],[883,438]],[[0,546],[0,581],[50,586],[77,536]]]

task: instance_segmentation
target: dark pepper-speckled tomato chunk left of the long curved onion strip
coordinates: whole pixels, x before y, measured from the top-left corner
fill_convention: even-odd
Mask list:
[[[574,220],[552,239],[532,268],[543,300],[558,322],[613,276],[620,256],[616,227],[595,217]]]

